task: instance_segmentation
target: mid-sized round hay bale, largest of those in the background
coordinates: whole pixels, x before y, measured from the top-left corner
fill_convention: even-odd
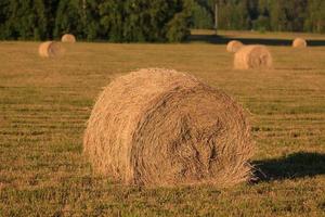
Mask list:
[[[245,46],[235,53],[236,69],[272,68],[273,60],[265,46]]]

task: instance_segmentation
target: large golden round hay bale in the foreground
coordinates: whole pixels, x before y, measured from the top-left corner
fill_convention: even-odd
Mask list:
[[[187,74],[141,69],[99,97],[83,138],[94,171],[127,184],[232,186],[250,178],[243,108]]]

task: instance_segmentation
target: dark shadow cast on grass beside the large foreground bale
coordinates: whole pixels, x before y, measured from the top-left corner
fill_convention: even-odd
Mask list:
[[[297,152],[281,158],[253,162],[259,181],[296,179],[325,175],[325,154]]]

